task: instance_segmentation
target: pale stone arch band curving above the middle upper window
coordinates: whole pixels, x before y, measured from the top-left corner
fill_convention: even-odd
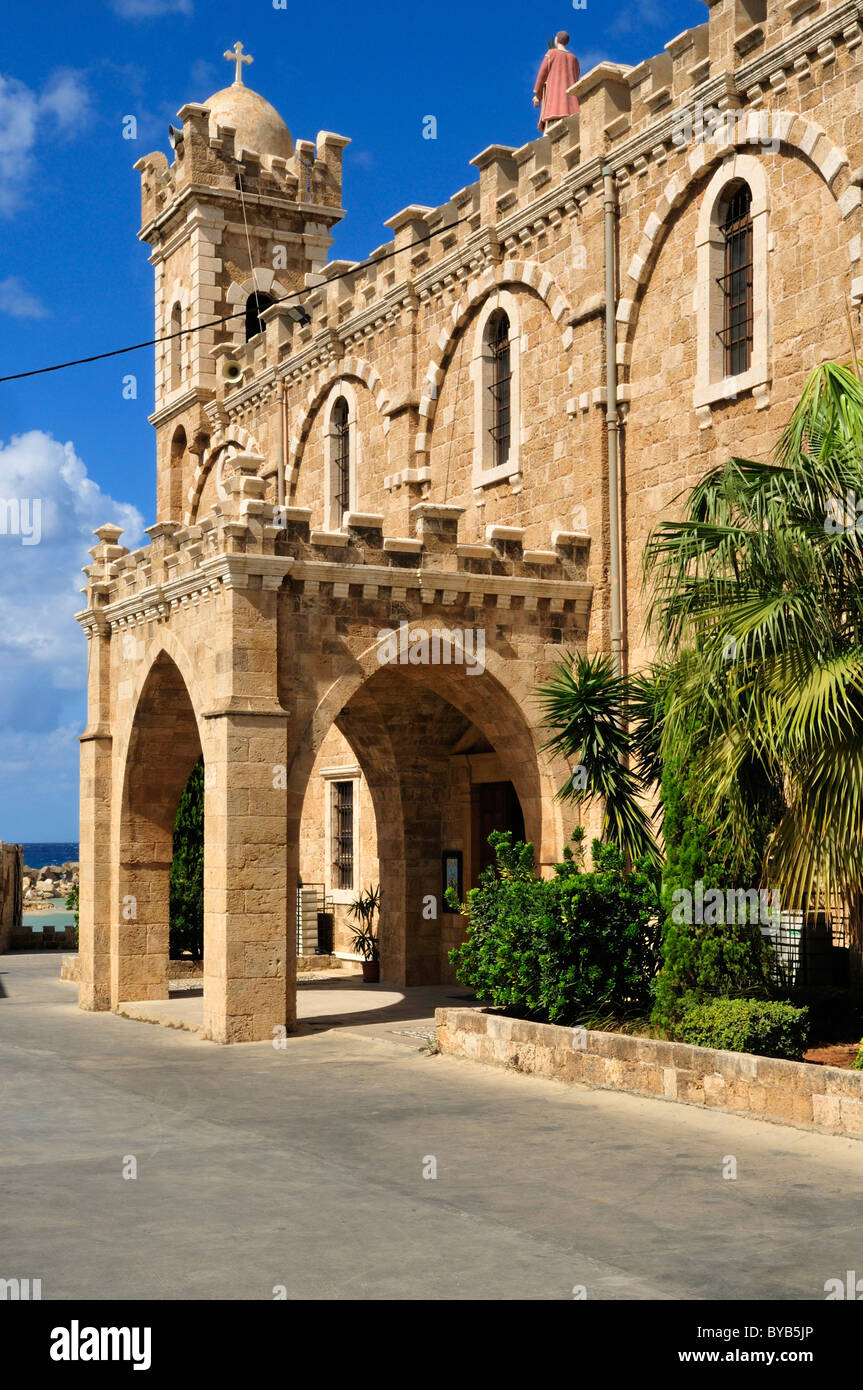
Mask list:
[[[549,314],[560,329],[561,352],[566,353],[571,346],[573,329],[571,327],[564,325],[567,324],[567,320],[573,317],[573,310],[548,271],[543,271],[534,261],[503,261],[503,264],[484,271],[484,274],[474,281],[459,303],[453,306],[450,325],[435,343],[435,350],[425,370],[420,399],[420,428],[417,431],[417,461],[421,466],[428,464],[429,461],[431,436],[435,425],[441,388],[443,385],[450,360],[459,342],[461,341],[463,332],[474,316],[491,313],[493,307],[503,304],[504,300],[500,297],[502,295],[507,296],[506,303],[509,303],[511,311],[516,311],[518,291],[524,291],[545,303]],[[498,296],[498,300],[493,300],[492,296]],[[492,303],[491,310],[485,310],[488,300]],[[521,321],[518,314],[516,321]],[[521,356],[521,353],[518,356]],[[482,377],[481,373],[479,377]],[[475,375],[474,392],[477,392]],[[474,398],[474,402],[477,403],[477,396]],[[475,461],[477,460],[474,460],[474,463]]]

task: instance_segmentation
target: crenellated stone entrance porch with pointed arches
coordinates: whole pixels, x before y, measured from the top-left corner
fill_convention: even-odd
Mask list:
[[[535,689],[584,646],[592,592],[577,534],[556,532],[541,553],[523,553],[511,530],[461,546],[461,509],[418,505],[411,541],[389,542],[363,517],[334,545],[309,513],[261,500],[258,466],[238,456],[206,525],[151,527],[133,555],[103,527],[79,614],[92,644],[79,1002],[115,1009],[167,992],[171,833],[203,751],[204,1031],[220,1042],[271,1041],[296,1022],[300,817],[334,724],[378,819],[386,977],[445,977],[454,942],[421,908],[441,894],[441,851],[457,848],[459,824],[470,851],[459,821],[470,762],[457,762],[468,727],[495,751],[489,776],[514,787],[550,872],[567,769],[542,752]],[[439,659],[382,659],[400,624],[439,639]],[[481,641],[481,670],[468,670],[468,638]],[[135,916],[124,917],[126,899]]]

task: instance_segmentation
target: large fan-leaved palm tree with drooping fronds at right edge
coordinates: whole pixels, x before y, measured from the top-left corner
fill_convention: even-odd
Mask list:
[[[766,878],[784,906],[863,894],[863,384],[819,367],[770,461],[730,459],[645,550],[673,669],[663,748],[741,855],[780,796]]]

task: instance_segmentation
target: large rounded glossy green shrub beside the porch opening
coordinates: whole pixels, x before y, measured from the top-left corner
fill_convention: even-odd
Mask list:
[[[461,984],[495,1008],[548,1023],[585,1011],[645,1009],[656,970],[657,890],[646,863],[593,841],[593,872],[567,848],[553,878],[534,872],[534,847],[492,833],[486,869],[461,910],[467,940],[450,952]],[[573,837],[578,844],[581,834]]]

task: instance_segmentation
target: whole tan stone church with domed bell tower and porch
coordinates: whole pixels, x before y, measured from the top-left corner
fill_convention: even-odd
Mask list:
[[[443,856],[464,891],[493,827],[559,859],[536,685],[649,657],[648,531],[766,456],[859,322],[863,4],[707,10],[359,263],[328,260],[347,139],[295,140],[240,46],[139,160],[158,486],[149,545],[97,531],[79,614],[82,1008],[167,995],[202,753],[221,1042],[295,1020],[297,881],[342,951],[379,881],[382,979],[420,984],[464,927]]]

